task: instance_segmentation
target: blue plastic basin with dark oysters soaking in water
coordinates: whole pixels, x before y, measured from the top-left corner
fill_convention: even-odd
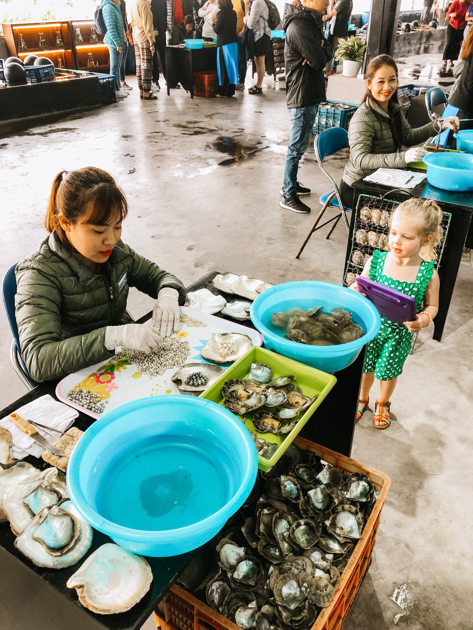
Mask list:
[[[351,312],[354,323],[363,328],[365,336],[337,346],[310,346],[284,339],[283,328],[271,324],[271,315],[274,312],[288,311],[295,307],[307,310],[320,304],[325,312],[337,306],[347,309]],[[337,372],[351,365],[365,343],[377,335],[381,325],[376,307],[363,295],[337,284],[311,280],[286,282],[266,289],[253,302],[251,319],[262,335],[265,348],[316,367],[322,372]]]

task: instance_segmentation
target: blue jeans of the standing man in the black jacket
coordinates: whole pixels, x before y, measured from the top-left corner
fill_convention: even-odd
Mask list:
[[[295,197],[297,194],[297,169],[299,161],[307,151],[310,132],[317,116],[318,103],[296,107],[289,110],[291,131],[289,132],[289,146],[284,164],[284,197]]]

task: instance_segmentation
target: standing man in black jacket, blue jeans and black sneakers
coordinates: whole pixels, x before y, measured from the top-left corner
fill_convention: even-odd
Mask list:
[[[293,212],[310,212],[298,195],[308,195],[297,181],[299,161],[307,151],[310,131],[317,116],[318,103],[325,98],[323,69],[332,57],[324,39],[322,14],[329,0],[303,0],[302,5],[286,4],[283,28],[286,31],[284,62],[286,66],[286,101],[291,131],[284,166],[283,198],[279,205]]]

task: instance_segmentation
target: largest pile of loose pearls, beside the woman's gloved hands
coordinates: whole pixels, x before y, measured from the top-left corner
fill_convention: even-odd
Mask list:
[[[146,354],[142,350],[132,348],[122,348],[115,355],[114,359],[127,357],[136,364],[138,372],[156,376],[164,374],[172,367],[182,367],[185,360],[190,355],[189,341],[179,341],[176,337],[165,337],[161,348],[151,354]]]

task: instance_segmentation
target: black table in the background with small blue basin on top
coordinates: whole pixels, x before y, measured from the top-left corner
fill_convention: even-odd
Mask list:
[[[165,57],[168,96],[172,86],[180,83],[186,92],[190,92],[190,98],[194,98],[192,72],[217,69],[217,49],[214,47],[187,49],[166,46]]]

